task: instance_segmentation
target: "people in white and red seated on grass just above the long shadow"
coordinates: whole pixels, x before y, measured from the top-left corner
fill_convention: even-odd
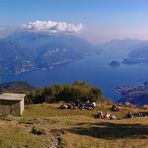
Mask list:
[[[103,114],[102,111],[97,111],[96,117],[100,119],[111,119],[111,120],[117,119],[115,115],[112,115],[109,112],[107,112],[106,114]]]

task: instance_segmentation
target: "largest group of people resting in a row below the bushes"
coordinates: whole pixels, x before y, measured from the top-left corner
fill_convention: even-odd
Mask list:
[[[87,101],[86,103],[64,103],[59,108],[60,109],[81,109],[81,110],[92,110],[96,107],[96,102]]]

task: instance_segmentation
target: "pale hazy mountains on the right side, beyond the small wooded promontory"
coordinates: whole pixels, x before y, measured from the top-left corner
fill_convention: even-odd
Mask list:
[[[124,64],[139,64],[148,62],[148,41],[142,40],[111,40],[99,46],[105,54],[113,56],[112,61]],[[117,55],[114,58],[114,55]]]

